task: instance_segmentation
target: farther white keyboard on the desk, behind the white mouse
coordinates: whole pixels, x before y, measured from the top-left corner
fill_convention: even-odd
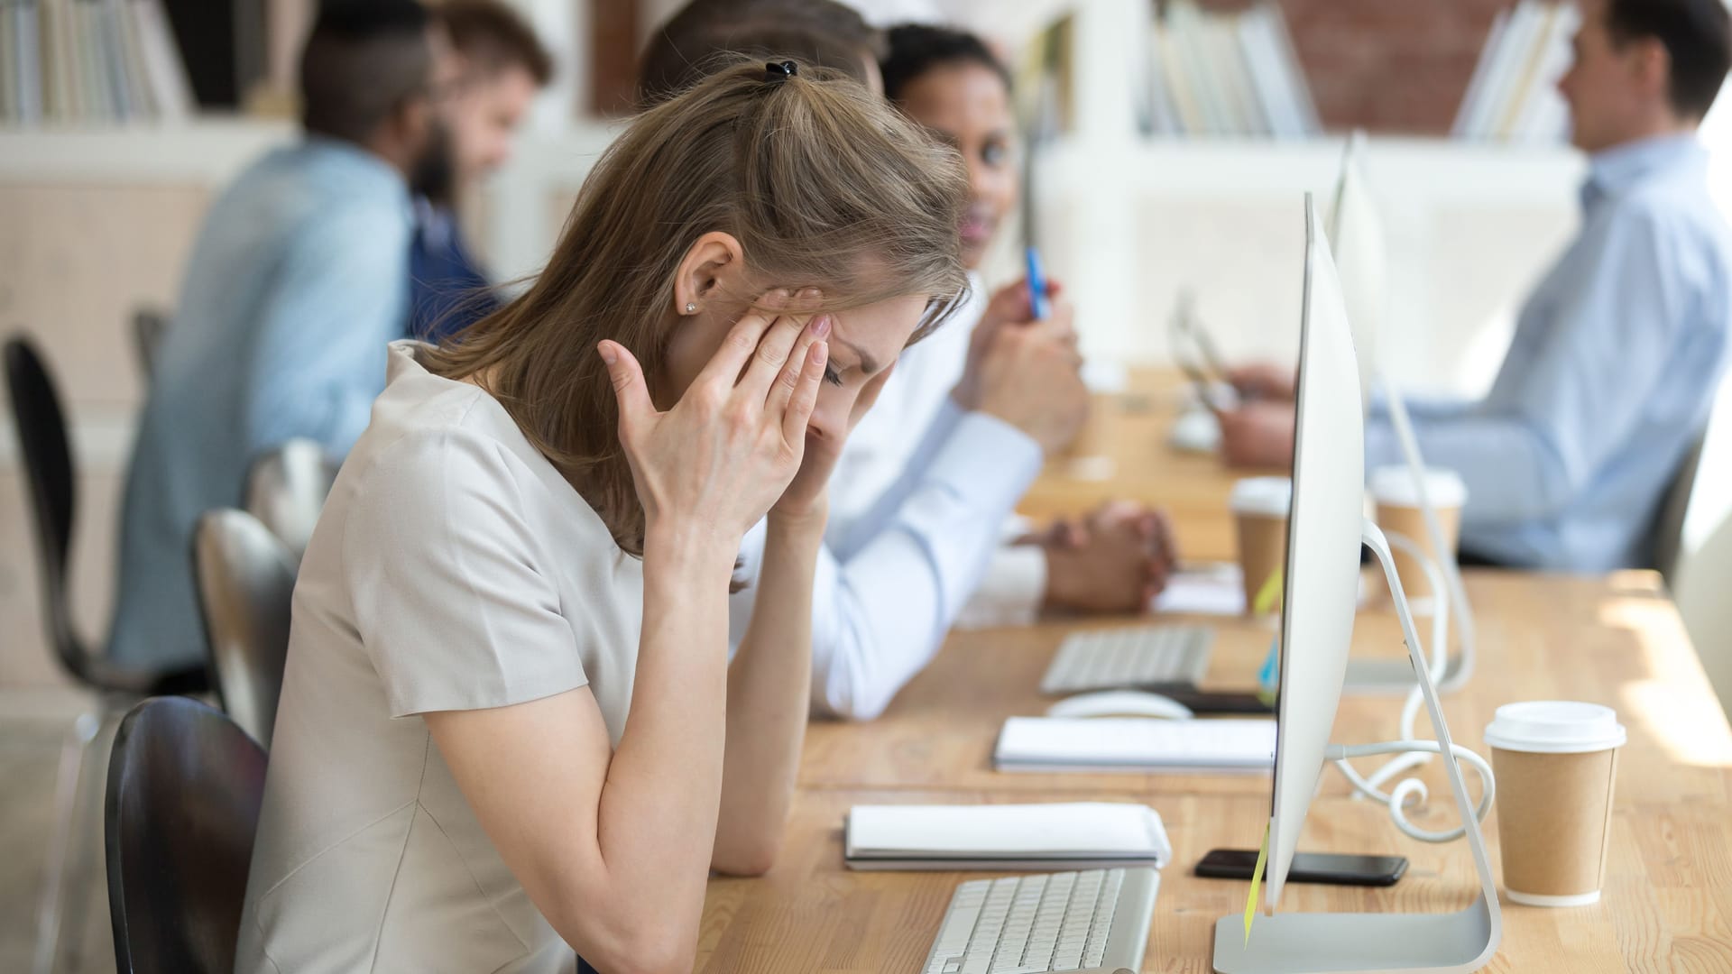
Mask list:
[[[1209,669],[1214,629],[1207,626],[1133,626],[1072,633],[1041,678],[1041,693],[1195,686]]]

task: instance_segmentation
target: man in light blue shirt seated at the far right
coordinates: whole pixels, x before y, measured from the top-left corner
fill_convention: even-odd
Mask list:
[[[1658,508],[1727,366],[1732,231],[1696,128],[1729,49],[1723,0],[1583,3],[1559,83],[1592,159],[1581,232],[1528,298],[1491,392],[1412,407],[1425,463],[1467,482],[1464,556],[1569,572],[1649,562]],[[1223,456],[1290,463],[1290,374],[1237,380],[1263,395],[1221,418]],[[1367,468],[1401,463],[1380,407],[1365,454]]]

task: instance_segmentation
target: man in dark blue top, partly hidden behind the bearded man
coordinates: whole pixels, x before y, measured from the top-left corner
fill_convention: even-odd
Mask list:
[[[499,0],[445,0],[433,17],[450,38],[459,80],[443,113],[450,165],[414,187],[423,196],[409,251],[407,334],[426,341],[462,331],[501,305],[452,206],[462,189],[511,158],[523,114],[553,80],[553,57],[533,28]]]

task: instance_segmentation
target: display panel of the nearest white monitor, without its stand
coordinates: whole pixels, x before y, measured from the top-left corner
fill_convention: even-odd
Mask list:
[[[1280,731],[1270,823],[1271,910],[1282,898],[1299,830],[1323,773],[1323,752],[1347,674],[1365,518],[1358,362],[1328,239],[1309,196],[1304,265],[1294,490],[1282,596]]]

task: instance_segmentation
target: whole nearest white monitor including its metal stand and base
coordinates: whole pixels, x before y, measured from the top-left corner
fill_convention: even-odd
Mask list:
[[[1280,704],[1275,740],[1275,795],[1270,813],[1264,908],[1271,913],[1221,917],[1214,929],[1218,974],[1339,974],[1344,971],[1479,971],[1496,953],[1502,915],[1479,816],[1450,740],[1443,705],[1425,674],[1422,643],[1406,608],[1394,558],[1380,530],[1363,518],[1365,418],[1346,300],[1335,277],[1328,239],[1306,196],[1304,308],[1299,326],[1299,388],[1294,440],[1294,490],[1287,518],[1287,568],[1282,601]],[[1410,679],[1419,678],[1443,756],[1450,792],[1462,815],[1477,873],[1477,896],[1464,910],[1424,913],[1276,913],[1299,834],[1311,811],[1325,761],[1413,750],[1419,742],[1339,747],[1328,737],[1341,705],[1358,601],[1360,544],[1368,544],[1389,579],[1396,615],[1408,645]],[[1247,905],[1249,906],[1249,905]]]

